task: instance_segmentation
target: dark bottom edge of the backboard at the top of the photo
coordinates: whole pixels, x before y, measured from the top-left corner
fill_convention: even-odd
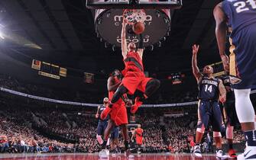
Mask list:
[[[178,9],[182,0],[86,0],[90,9]]]

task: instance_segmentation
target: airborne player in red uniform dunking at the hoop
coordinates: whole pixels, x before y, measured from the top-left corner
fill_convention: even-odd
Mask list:
[[[127,24],[128,23],[124,18],[121,35],[122,56],[125,62],[125,69],[122,71],[124,78],[122,79],[122,84],[113,95],[109,107],[112,107],[112,105],[115,104],[123,94],[134,94],[135,90],[142,91],[144,93],[141,98],[139,98],[139,101],[144,101],[160,87],[160,82],[157,79],[146,78],[144,75],[144,66],[142,62],[144,52],[142,34],[139,35],[138,49],[136,48],[135,43],[131,42],[127,45],[125,37]]]

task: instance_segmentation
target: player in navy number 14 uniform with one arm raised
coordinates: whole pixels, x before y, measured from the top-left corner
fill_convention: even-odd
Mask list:
[[[212,66],[205,66],[203,68],[203,74],[199,72],[196,60],[198,50],[199,46],[194,45],[192,68],[193,75],[196,77],[199,88],[199,121],[196,130],[196,146],[194,149],[194,155],[197,157],[202,157],[199,144],[203,138],[203,133],[205,132],[205,129],[208,126],[210,120],[212,123],[213,138],[216,145],[216,157],[225,159],[228,158],[228,155],[225,155],[222,152],[222,135],[220,133],[222,130],[222,113],[218,104],[219,94],[222,102],[225,101],[225,87],[221,80],[212,76]]]

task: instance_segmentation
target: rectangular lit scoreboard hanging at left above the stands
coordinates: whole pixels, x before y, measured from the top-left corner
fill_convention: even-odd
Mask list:
[[[42,62],[33,59],[31,68],[38,70],[38,75],[43,75],[55,79],[60,79],[60,77],[66,77],[67,69],[50,64],[49,62]]]

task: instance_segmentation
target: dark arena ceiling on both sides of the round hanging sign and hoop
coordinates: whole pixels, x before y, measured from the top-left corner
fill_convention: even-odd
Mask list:
[[[173,13],[170,36],[160,48],[146,51],[146,69],[190,70],[193,43],[202,48],[200,65],[219,61],[212,16],[218,2],[183,0],[183,8]],[[92,67],[109,72],[122,67],[120,51],[105,48],[96,37],[92,12],[85,0],[1,0],[0,6],[0,29],[12,40],[2,40],[2,47],[75,69]]]

